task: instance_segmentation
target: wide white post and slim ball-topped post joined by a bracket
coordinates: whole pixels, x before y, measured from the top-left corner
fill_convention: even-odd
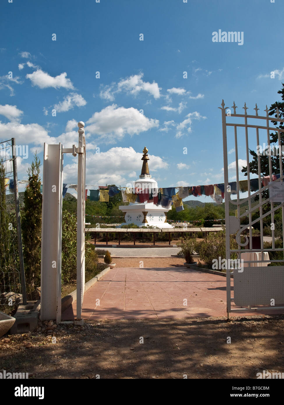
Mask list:
[[[41,230],[41,320],[61,322],[62,175],[63,154],[78,154],[77,186],[77,321],[85,290],[85,124],[78,123],[79,145],[44,144]]]

